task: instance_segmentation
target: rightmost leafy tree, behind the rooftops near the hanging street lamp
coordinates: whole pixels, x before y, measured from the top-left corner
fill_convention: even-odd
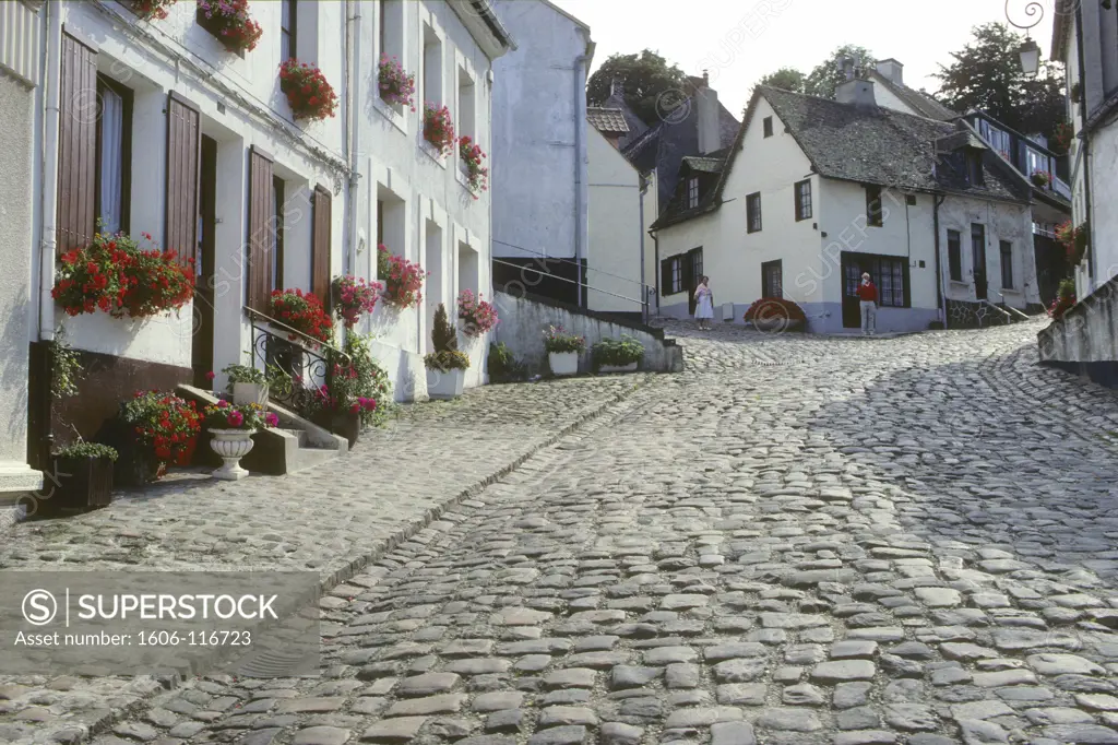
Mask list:
[[[944,104],[959,113],[980,109],[1023,134],[1053,139],[1065,120],[1059,68],[1042,59],[1035,77],[1025,75],[1018,55],[1024,38],[1004,23],[975,26],[972,34],[951,54],[955,62],[935,75]]]

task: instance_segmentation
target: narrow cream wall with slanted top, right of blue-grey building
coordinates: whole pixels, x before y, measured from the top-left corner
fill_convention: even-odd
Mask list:
[[[587,284],[591,287],[587,290],[587,304],[590,310],[638,313],[644,230],[641,173],[597,129],[588,126],[587,135],[590,183]]]

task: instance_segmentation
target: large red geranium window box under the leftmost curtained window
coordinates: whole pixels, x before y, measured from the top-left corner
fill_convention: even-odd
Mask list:
[[[69,315],[102,310],[113,318],[146,318],[190,302],[195,277],[173,251],[141,251],[131,236],[98,233],[61,255],[50,294]]]

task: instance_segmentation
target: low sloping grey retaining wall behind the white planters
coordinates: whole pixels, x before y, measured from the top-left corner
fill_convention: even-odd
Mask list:
[[[586,351],[579,359],[579,372],[590,371],[590,347],[601,339],[618,339],[623,334],[644,345],[641,369],[656,372],[683,370],[683,349],[674,339],[665,339],[663,329],[614,318],[606,313],[581,310],[567,303],[534,295],[511,295],[496,292],[495,302],[501,323],[493,341],[504,342],[532,374],[548,371],[543,350],[543,330],[562,326],[569,333],[586,337]]]

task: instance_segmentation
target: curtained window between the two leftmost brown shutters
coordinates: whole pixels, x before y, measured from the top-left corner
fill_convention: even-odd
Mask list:
[[[96,210],[101,230],[129,229],[132,175],[132,92],[97,75]]]

